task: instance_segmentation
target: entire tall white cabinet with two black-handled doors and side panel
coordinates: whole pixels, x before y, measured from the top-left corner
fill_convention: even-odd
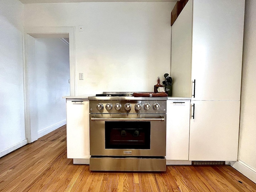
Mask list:
[[[173,96],[192,97],[189,160],[237,160],[244,0],[189,0],[172,26]]]

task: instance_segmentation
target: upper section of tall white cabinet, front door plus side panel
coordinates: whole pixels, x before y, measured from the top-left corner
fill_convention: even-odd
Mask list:
[[[188,1],[172,25],[173,96],[240,100],[244,4]]]

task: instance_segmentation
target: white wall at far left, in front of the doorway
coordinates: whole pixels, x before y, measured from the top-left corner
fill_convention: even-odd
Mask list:
[[[26,144],[23,92],[23,4],[0,1],[0,157]]]

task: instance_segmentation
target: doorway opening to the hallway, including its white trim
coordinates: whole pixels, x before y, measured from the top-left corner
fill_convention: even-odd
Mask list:
[[[45,28],[34,28],[24,36],[28,143],[66,124],[66,100],[62,96],[75,94],[74,29],[56,30],[60,28],[49,28],[47,32]]]

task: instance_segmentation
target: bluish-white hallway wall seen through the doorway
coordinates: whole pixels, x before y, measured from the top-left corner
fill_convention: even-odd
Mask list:
[[[35,39],[35,63],[28,66],[30,123],[38,138],[66,124],[66,101],[70,95],[69,46],[59,38]]]

